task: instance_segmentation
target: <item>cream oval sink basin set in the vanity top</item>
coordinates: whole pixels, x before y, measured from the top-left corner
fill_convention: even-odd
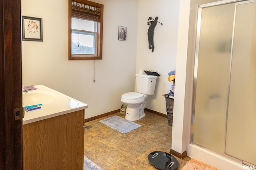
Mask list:
[[[37,105],[37,104],[47,104],[52,103],[58,98],[58,95],[49,91],[28,91],[28,93],[23,94],[23,105]]]

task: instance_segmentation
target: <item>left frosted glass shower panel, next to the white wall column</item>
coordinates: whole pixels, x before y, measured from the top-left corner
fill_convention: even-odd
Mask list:
[[[193,141],[224,153],[234,3],[202,8]],[[198,37],[198,35],[197,35]],[[198,41],[198,40],[197,40]],[[198,42],[197,42],[198,43]]]

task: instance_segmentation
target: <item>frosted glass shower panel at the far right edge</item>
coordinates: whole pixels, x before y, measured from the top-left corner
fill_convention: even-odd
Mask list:
[[[256,2],[236,6],[226,154],[256,165]]]

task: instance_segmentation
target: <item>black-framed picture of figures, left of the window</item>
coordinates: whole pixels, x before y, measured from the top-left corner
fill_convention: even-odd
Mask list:
[[[42,18],[22,16],[22,40],[43,41]]]

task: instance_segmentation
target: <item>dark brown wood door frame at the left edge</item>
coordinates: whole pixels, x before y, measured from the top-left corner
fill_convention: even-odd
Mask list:
[[[0,169],[22,170],[22,107],[20,0],[0,0]]]

